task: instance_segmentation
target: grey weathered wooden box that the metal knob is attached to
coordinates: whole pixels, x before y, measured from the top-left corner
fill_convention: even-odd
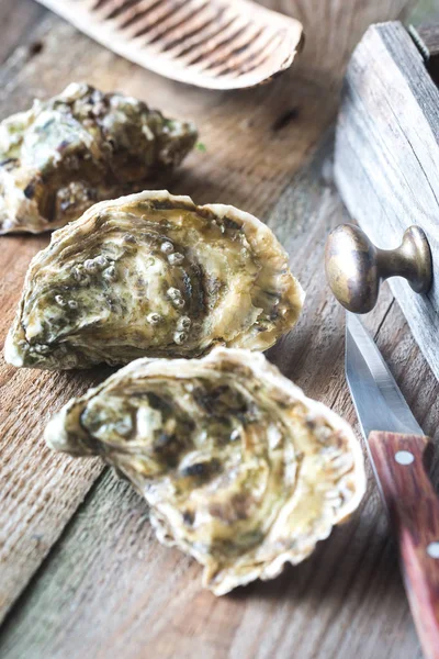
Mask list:
[[[425,295],[390,280],[412,332],[439,378],[439,30],[372,25],[350,60],[336,133],[341,197],[370,238],[396,247],[404,230],[427,234],[434,283]],[[435,277],[436,275],[436,277]]]

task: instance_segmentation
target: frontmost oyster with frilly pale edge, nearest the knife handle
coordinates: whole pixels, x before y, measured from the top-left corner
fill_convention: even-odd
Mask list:
[[[115,466],[158,539],[202,563],[216,595],[302,561],[365,487],[350,427],[248,350],[133,361],[67,403],[45,437]]]

